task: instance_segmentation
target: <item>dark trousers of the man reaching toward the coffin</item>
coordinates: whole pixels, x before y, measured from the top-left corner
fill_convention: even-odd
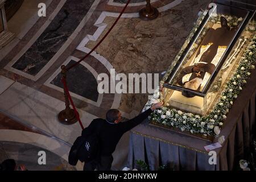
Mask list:
[[[84,164],[84,171],[110,171],[113,162],[113,156],[100,156],[98,159],[94,159]]]

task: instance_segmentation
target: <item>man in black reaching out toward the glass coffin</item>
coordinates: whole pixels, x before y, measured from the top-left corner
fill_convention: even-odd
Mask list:
[[[152,111],[160,108],[162,105],[162,102],[156,103],[152,105],[150,109],[126,122],[121,122],[122,114],[117,109],[110,109],[106,113],[106,119],[94,119],[90,125],[82,131],[82,135],[97,133],[100,139],[100,154],[91,162],[85,163],[84,170],[93,171],[97,168],[99,171],[109,171],[113,162],[112,153],[122,135],[142,123]]]

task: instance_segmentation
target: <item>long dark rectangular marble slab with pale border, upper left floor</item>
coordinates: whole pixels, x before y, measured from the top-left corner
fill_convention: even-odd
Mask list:
[[[13,68],[35,76],[67,41],[94,0],[67,0],[42,35]]]

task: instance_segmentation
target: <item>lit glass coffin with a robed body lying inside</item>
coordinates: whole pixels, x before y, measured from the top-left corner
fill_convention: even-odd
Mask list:
[[[254,14],[254,10],[230,3],[214,3],[204,12],[195,34],[184,44],[180,58],[161,86],[164,106],[199,115],[209,113],[218,91],[238,64],[234,57],[241,55],[245,37],[250,37],[245,30]]]

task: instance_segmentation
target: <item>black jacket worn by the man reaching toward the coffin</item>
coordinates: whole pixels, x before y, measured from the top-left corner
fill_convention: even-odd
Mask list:
[[[152,110],[148,109],[129,121],[119,122],[117,124],[109,123],[105,119],[94,119],[90,125],[82,131],[82,136],[97,133],[100,138],[100,155],[112,155],[122,135],[142,123],[151,113]]]

